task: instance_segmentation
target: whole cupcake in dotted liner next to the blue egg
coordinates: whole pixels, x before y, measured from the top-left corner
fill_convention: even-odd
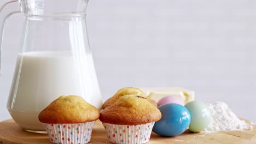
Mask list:
[[[161,112],[146,98],[124,95],[114,104],[101,110],[109,142],[146,143],[149,141],[154,123],[161,118]]]

